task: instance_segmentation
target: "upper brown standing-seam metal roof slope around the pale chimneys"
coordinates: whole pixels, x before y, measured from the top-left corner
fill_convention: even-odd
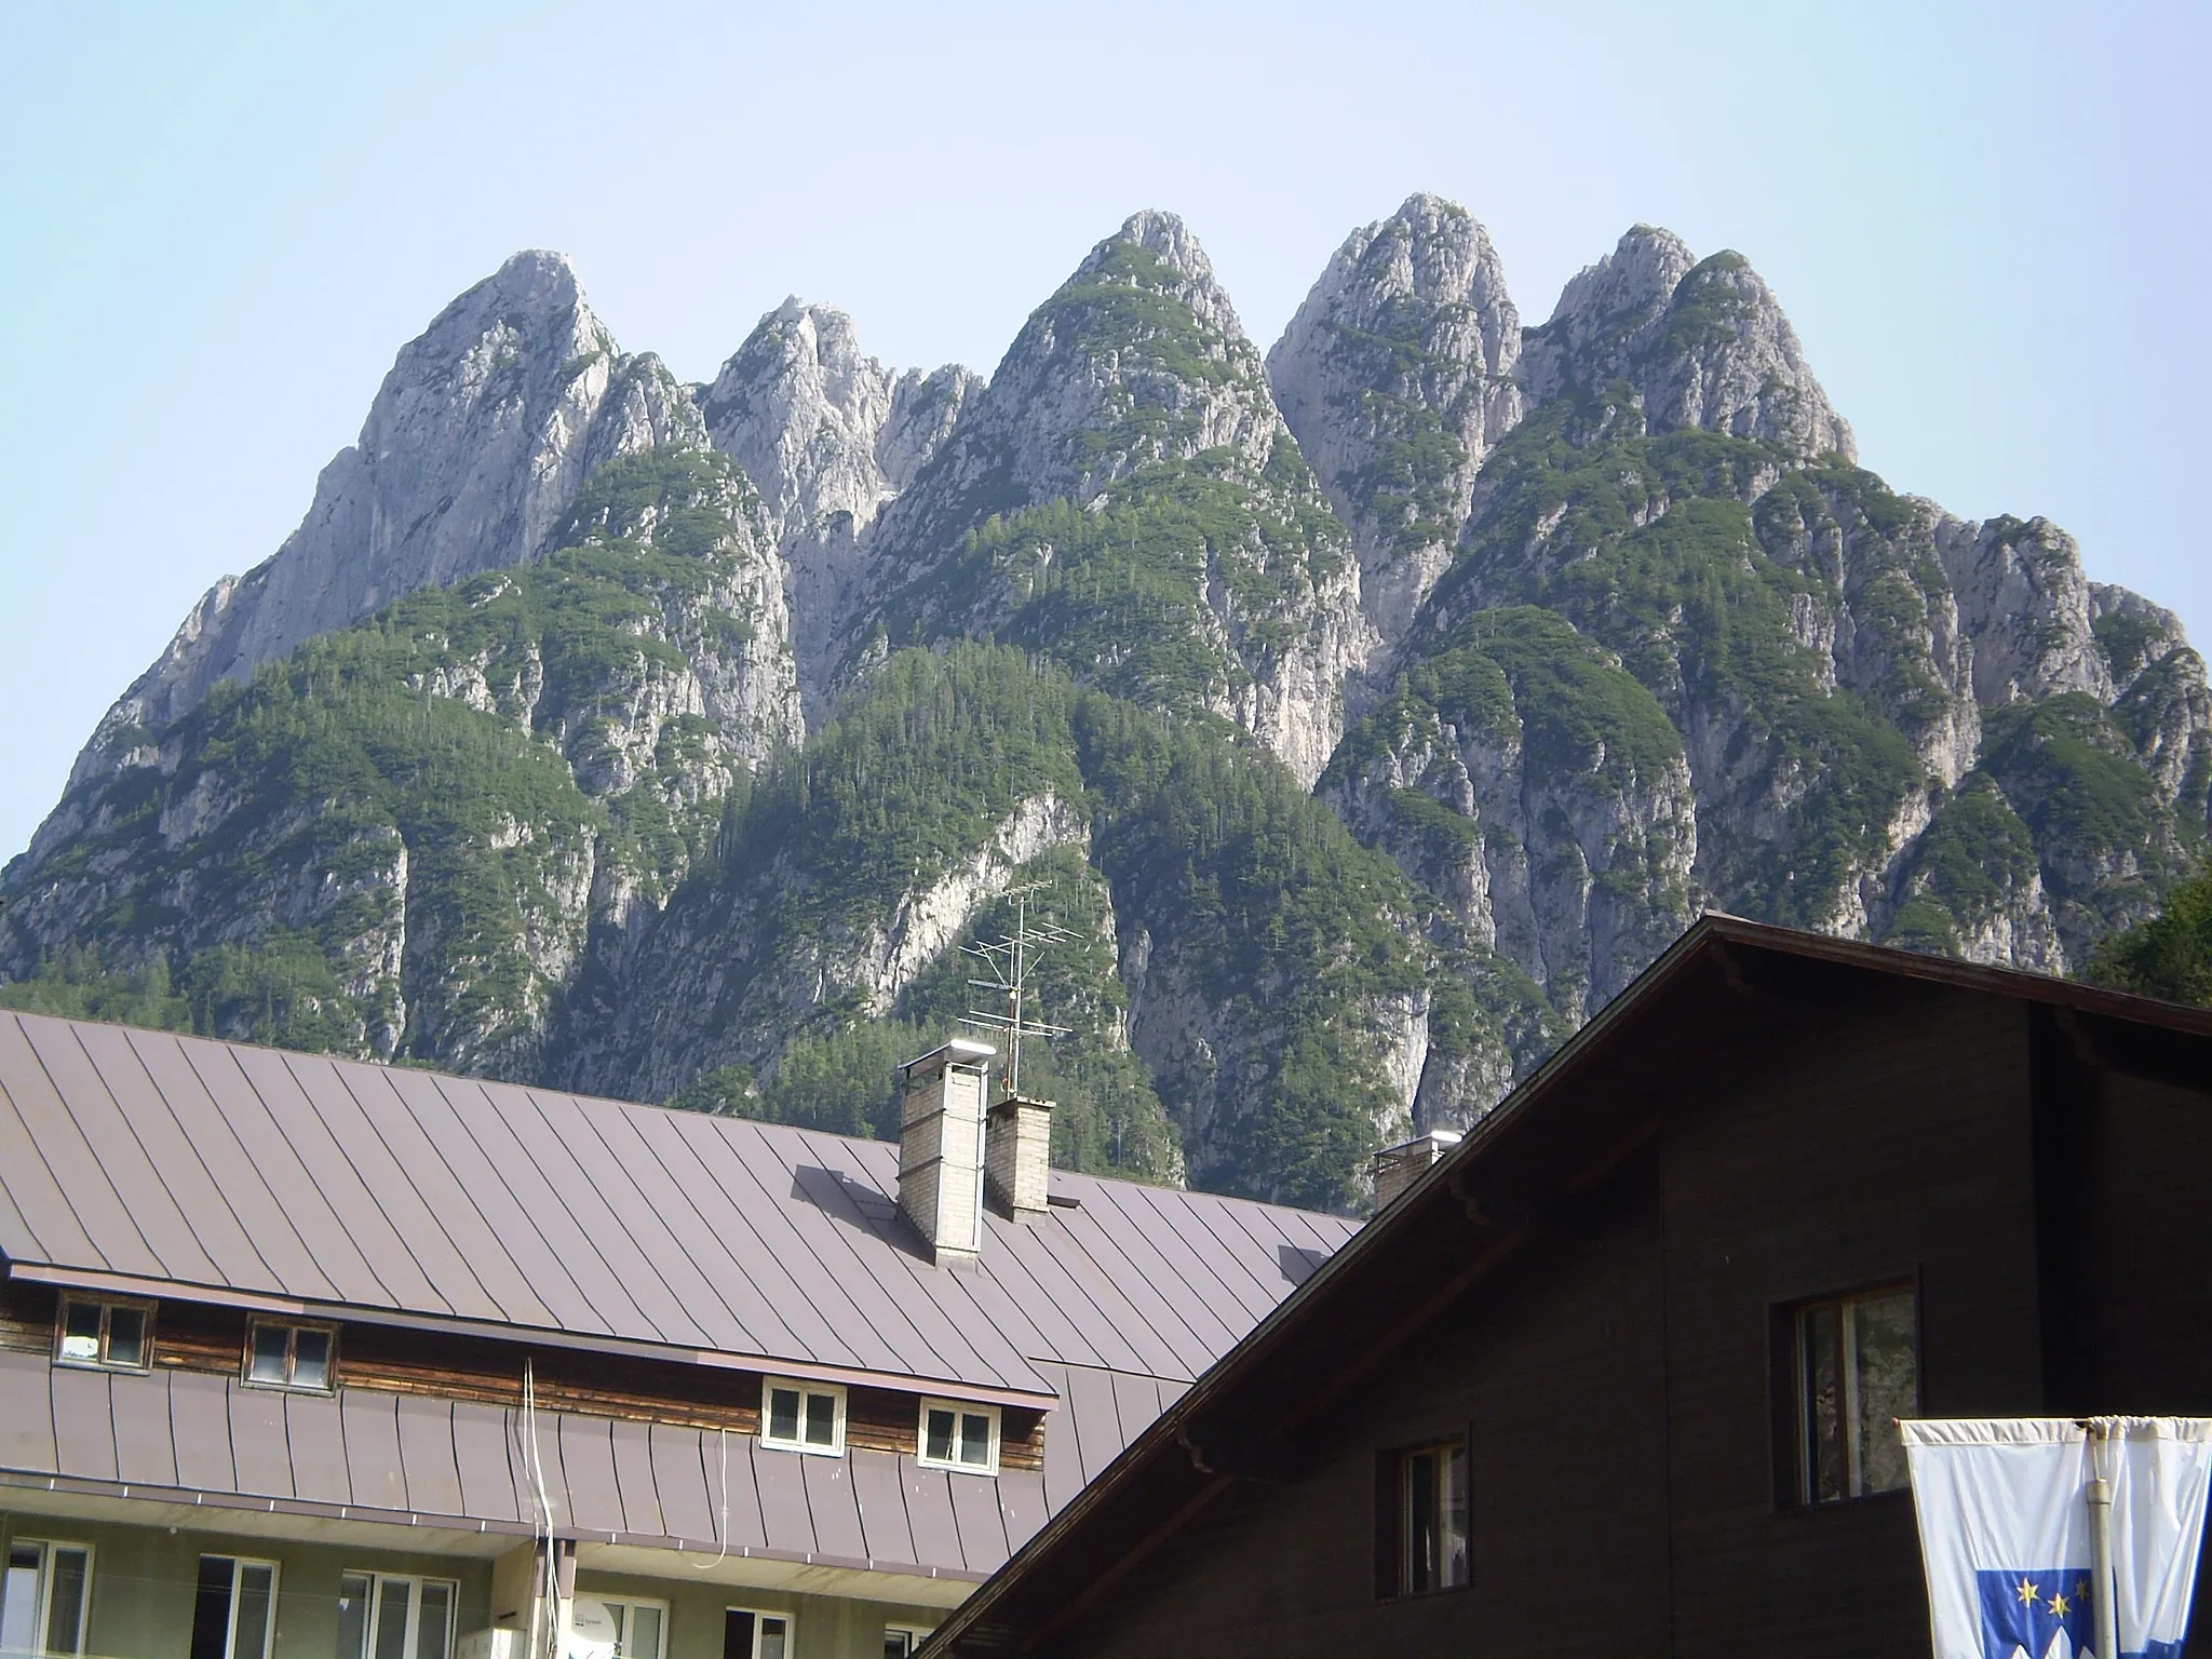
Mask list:
[[[1356,1225],[1053,1172],[940,1267],[896,1186],[885,1141],[0,1013],[20,1279],[1051,1407],[1190,1383]]]

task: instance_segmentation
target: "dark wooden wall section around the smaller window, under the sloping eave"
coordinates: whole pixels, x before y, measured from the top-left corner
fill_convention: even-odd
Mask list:
[[[1327,1411],[1312,1473],[1232,1486],[1053,1641],[1055,1659],[1659,1650],[1657,1168],[1630,1166],[1613,1197],[1599,1237],[1511,1256]],[[1460,1431],[1473,1584],[1378,1606],[1376,1455]]]

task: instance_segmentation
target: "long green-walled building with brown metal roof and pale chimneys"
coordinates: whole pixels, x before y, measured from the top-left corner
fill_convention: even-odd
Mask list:
[[[987,1055],[887,1146],[0,1013],[0,1650],[905,1655],[1352,1232]]]

